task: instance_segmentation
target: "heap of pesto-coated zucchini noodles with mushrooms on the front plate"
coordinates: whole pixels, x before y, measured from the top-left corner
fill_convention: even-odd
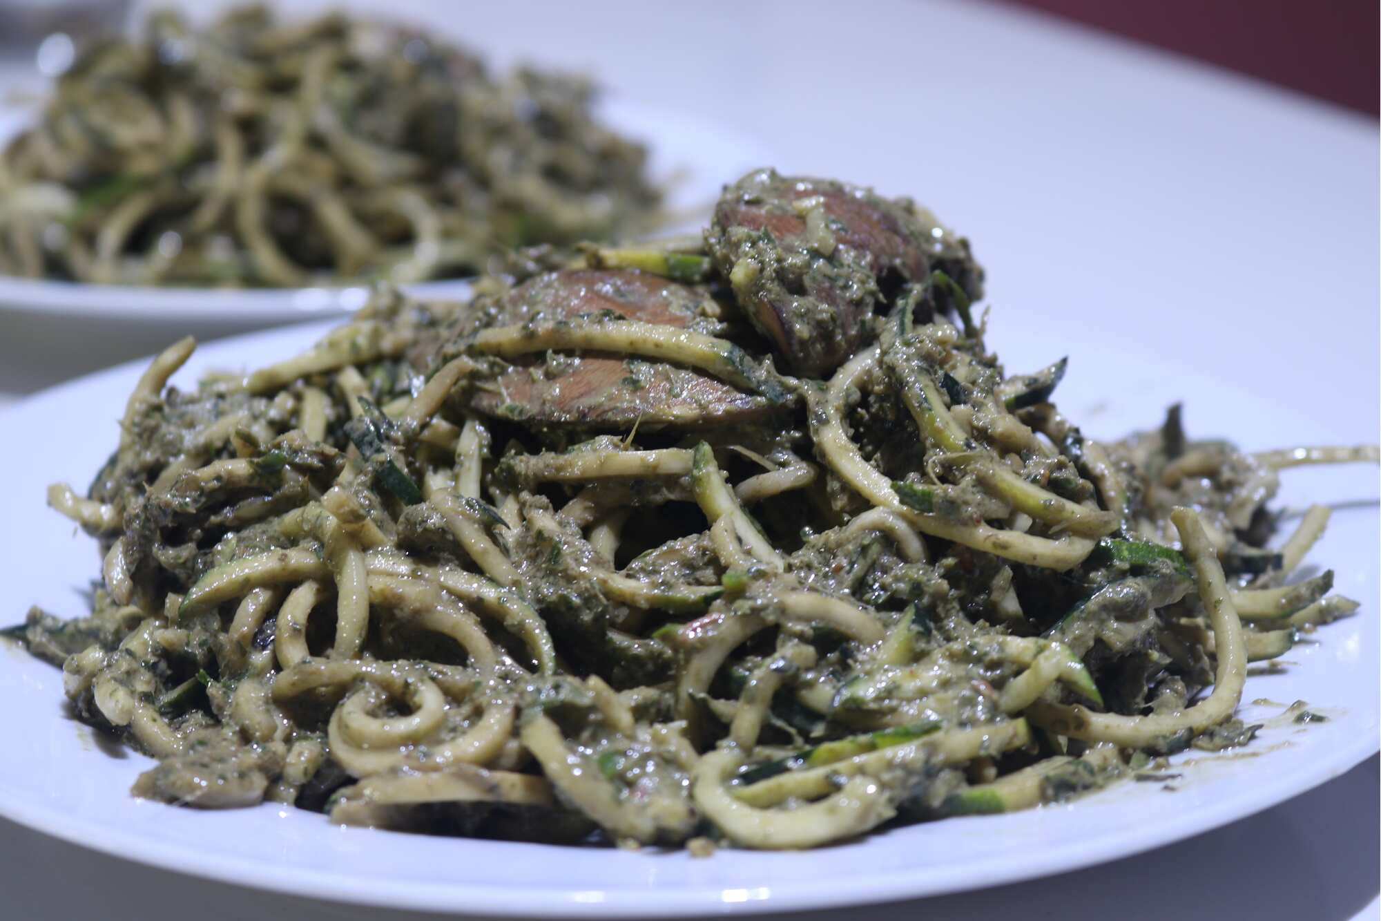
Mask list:
[[[309,118],[313,80],[272,156],[224,116],[195,220],[265,232],[264,165],[325,131],[409,183],[373,212],[304,187],[331,246],[365,264],[398,213],[443,246],[418,160]],[[178,342],[91,488],[48,491],[99,542],[90,615],[6,635],[157,761],[141,797],[427,832],[811,848],[1247,744],[1248,662],[1359,608],[1291,577],[1329,509],[1275,542],[1276,472],[1374,449],[1243,454],[1178,411],[1085,438],[1068,361],[1003,369],[982,270],[927,214],[761,171],[699,246],[529,254],[467,303],[380,289],[185,389]]]

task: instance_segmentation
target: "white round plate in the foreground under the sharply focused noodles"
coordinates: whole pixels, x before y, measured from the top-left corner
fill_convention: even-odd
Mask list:
[[[1068,342],[1021,329],[1000,313],[993,344],[1014,368],[1065,354]],[[1004,331],[1004,324],[1018,324]],[[243,368],[298,351],[323,325],[269,331],[204,348],[178,380],[207,368]],[[1186,407],[1192,433],[1247,448],[1277,433],[1356,441],[1369,433],[1282,419],[1266,394],[1189,369],[1106,348],[1076,350],[1059,394],[1085,430],[1110,436],[1159,423]],[[0,452],[6,527],[0,592],[17,618],[30,603],[64,615],[83,610],[97,575],[93,541],[44,508],[44,487],[83,487],[115,444],[116,419],[139,366],[77,380],[0,415],[14,441]],[[1207,396],[1206,396],[1207,394]],[[677,915],[818,909],[979,888],[1088,866],[1182,839],[1277,803],[1345,772],[1377,750],[1377,476],[1374,467],[1290,472],[1282,503],[1334,503],[1311,561],[1337,571],[1337,590],[1362,599],[1352,618],[1298,644],[1280,673],[1255,673],[1242,715],[1268,726],[1246,755],[1185,755],[1178,790],[1127,783],[1072,805],[1011,816],[896,828],[804,853],[724,850],[708,859],[656,850],[574,849],[428,838],[340,828],[322,816],[265,805],[220,813],[134,799],[128,787],[151,762],[93,738],[65,715],[61,673],[0,650],[0,813],[123,857],[304,896],[475,914]],[[1269,718],[1306,700],[1330,716],[1309,726]]]

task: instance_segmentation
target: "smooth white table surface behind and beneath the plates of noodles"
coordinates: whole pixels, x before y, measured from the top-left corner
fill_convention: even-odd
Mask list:
[[[1141,347],[1255,378],[1291,411],[1377,440],[1366,429],[1378,419],[1381,346],[1374,120],[974,1],[388,7],[500,62],[594,71],[630,100],[717,119],[776,151],[784,171],[914,195],[975,241],[994,328],[1014,313],[1058,315],[1077,357],[1097,348],[1101,311],[1139,311]],[[1258,322],[1219,308],[1242,303]],[[1258,337],[1288,342],[1291,366],[1253,362]],[[15,347],[0,329],[0,371]],[[1346,400],[1298,386],[1338,368],[1360,382]],[[30,389],[0,373],[0,402]],[[1374,918],[1377,788],[1371,758],[1139,857],[811,917]],[[182,878],[0,821],[0,918],[75,917],[423,915]]]

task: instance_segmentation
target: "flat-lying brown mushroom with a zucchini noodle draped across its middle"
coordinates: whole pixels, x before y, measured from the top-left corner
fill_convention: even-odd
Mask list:
[[[592,322],[620,317],[715,333],[718,307],[706,288],[626,268],[544,272],[503,295],[485,326]],[[627,429],[751,422],[778,404],[702,371],[627,355],[551,354],[514,360],[476,382],[470,408],[485,415],[550,426]]]

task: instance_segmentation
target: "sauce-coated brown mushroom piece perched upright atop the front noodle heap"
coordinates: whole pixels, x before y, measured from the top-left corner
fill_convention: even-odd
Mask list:
[[[968,241],[910,199],[833,180],[749,173],[725,188],[706,245],[749,319],[793,371],[815,378],[871,339],[873,317],[932,271],[982,296]]]

